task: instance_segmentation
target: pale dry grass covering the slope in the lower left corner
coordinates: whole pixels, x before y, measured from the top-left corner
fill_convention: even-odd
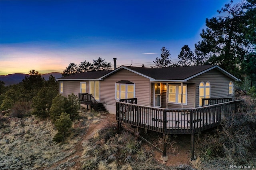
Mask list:
[[[21,126],[22,125],[22,126]],[[0,164],[1,167],[32,169],[48,166],[76,144],[70,140],[67,144],[52,141],[56,134],[50,121],[38,121],[27,117],[20,122],[11,122],[8,134],[0,129]]]

